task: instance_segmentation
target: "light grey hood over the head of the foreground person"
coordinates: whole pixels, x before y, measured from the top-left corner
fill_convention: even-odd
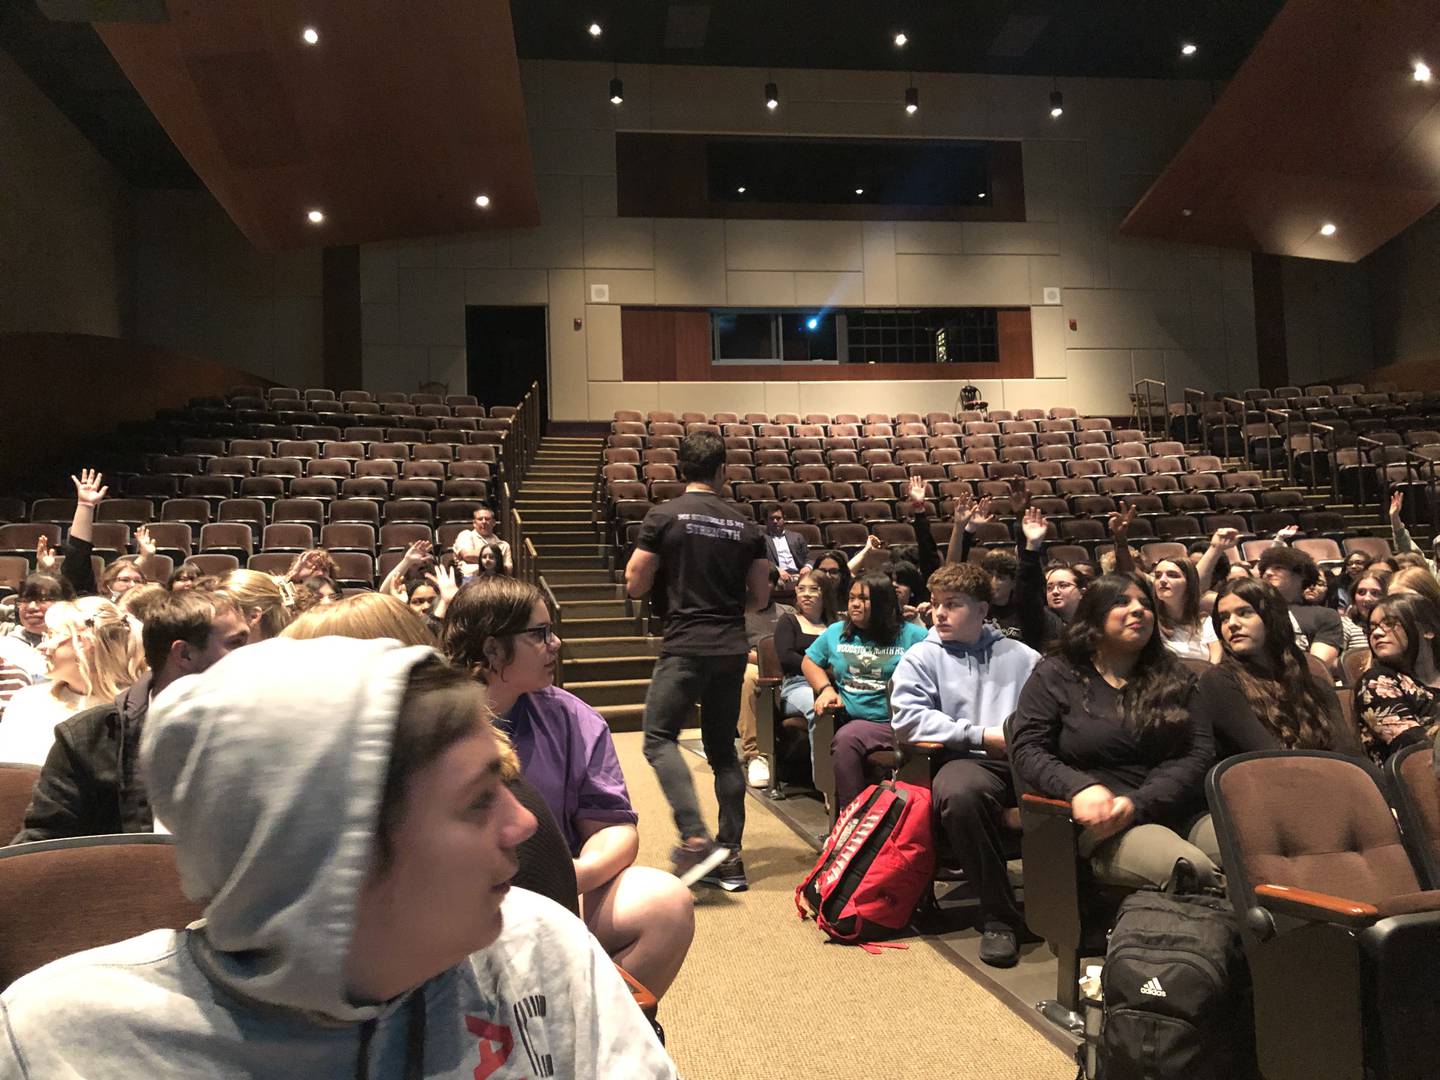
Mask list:
[[[410,670],[433,649],[278,638],[179,680],[150,706],[141,768],[174,832],[180,883],[206,903],[193,935],[212,978],[337,1021]]]

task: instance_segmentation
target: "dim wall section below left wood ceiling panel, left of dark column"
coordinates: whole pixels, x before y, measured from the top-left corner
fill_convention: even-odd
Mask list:
[[[324,383],[321,249],[262,252],[209,192],[135,192],[137,340]]]

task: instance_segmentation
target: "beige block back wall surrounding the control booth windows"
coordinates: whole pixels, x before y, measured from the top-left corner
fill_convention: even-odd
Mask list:
[[[366,384],[415,389],[465,373],[465,304],[550,305],[550,399],[557,419],[616,408],[848,410],[948,408],[953,382],[622,383],[621,304],[996,304],[1034,307],[1035,377],[982,384],[996,408],[1071,405],[1128,412],[1136,379],[1230,387],[1254,380],[1248,253],[1120,238],[1116,226],[1210,107],[1200,82],[1050,82],[917,75],[907,118],[893,72],[775,72],[783,99],[760,105],[766,72],[621,66],[625,104],[606,101],[608,65],[521,62],[541,225],[537,229],[366,245]],[[747,222],[618,217],[616,125],[639,131],[1014,138],[1028,220]],[[590,285],[609,285],[590,304]],[[1061,304],[1041,289],[1061,287]],[[582,328],[573,328],[573,320]],[[1076,320],[1076,330],[1067,321]],[[469,387],[484,393],[482,387]]]

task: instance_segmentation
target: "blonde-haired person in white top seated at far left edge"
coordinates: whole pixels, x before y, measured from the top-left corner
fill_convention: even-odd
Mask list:
[[[55,726],[82,708],[108,704],[145,674],[130,621],[109,600],[82,596],[45,613],[48,683],[26,687],[6,706],[0,762],[45,765]]]

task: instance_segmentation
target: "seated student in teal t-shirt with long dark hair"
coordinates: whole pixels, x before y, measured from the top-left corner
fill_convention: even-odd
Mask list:
[[[842,713],[850,720],[831,742],[838,806],[848,806],[864,791],[865,755],[893,744],[886,681],[924,634],[901,618],[894,583],[873,572],[850,586],[845,619],[827,626],[805,649],[801,668],[815,691],[815,711]]]

